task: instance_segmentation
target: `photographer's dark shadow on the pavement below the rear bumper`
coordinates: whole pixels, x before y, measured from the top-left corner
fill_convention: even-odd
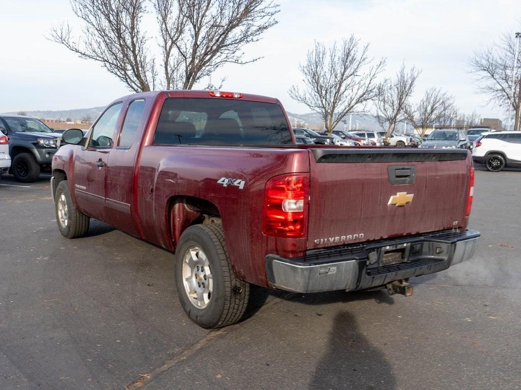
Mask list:
[[[392,390],[396,381],[389,362],[358,329],[355,317],[341,311],[334,318],[327,353],[320,359],[310,390]]]

